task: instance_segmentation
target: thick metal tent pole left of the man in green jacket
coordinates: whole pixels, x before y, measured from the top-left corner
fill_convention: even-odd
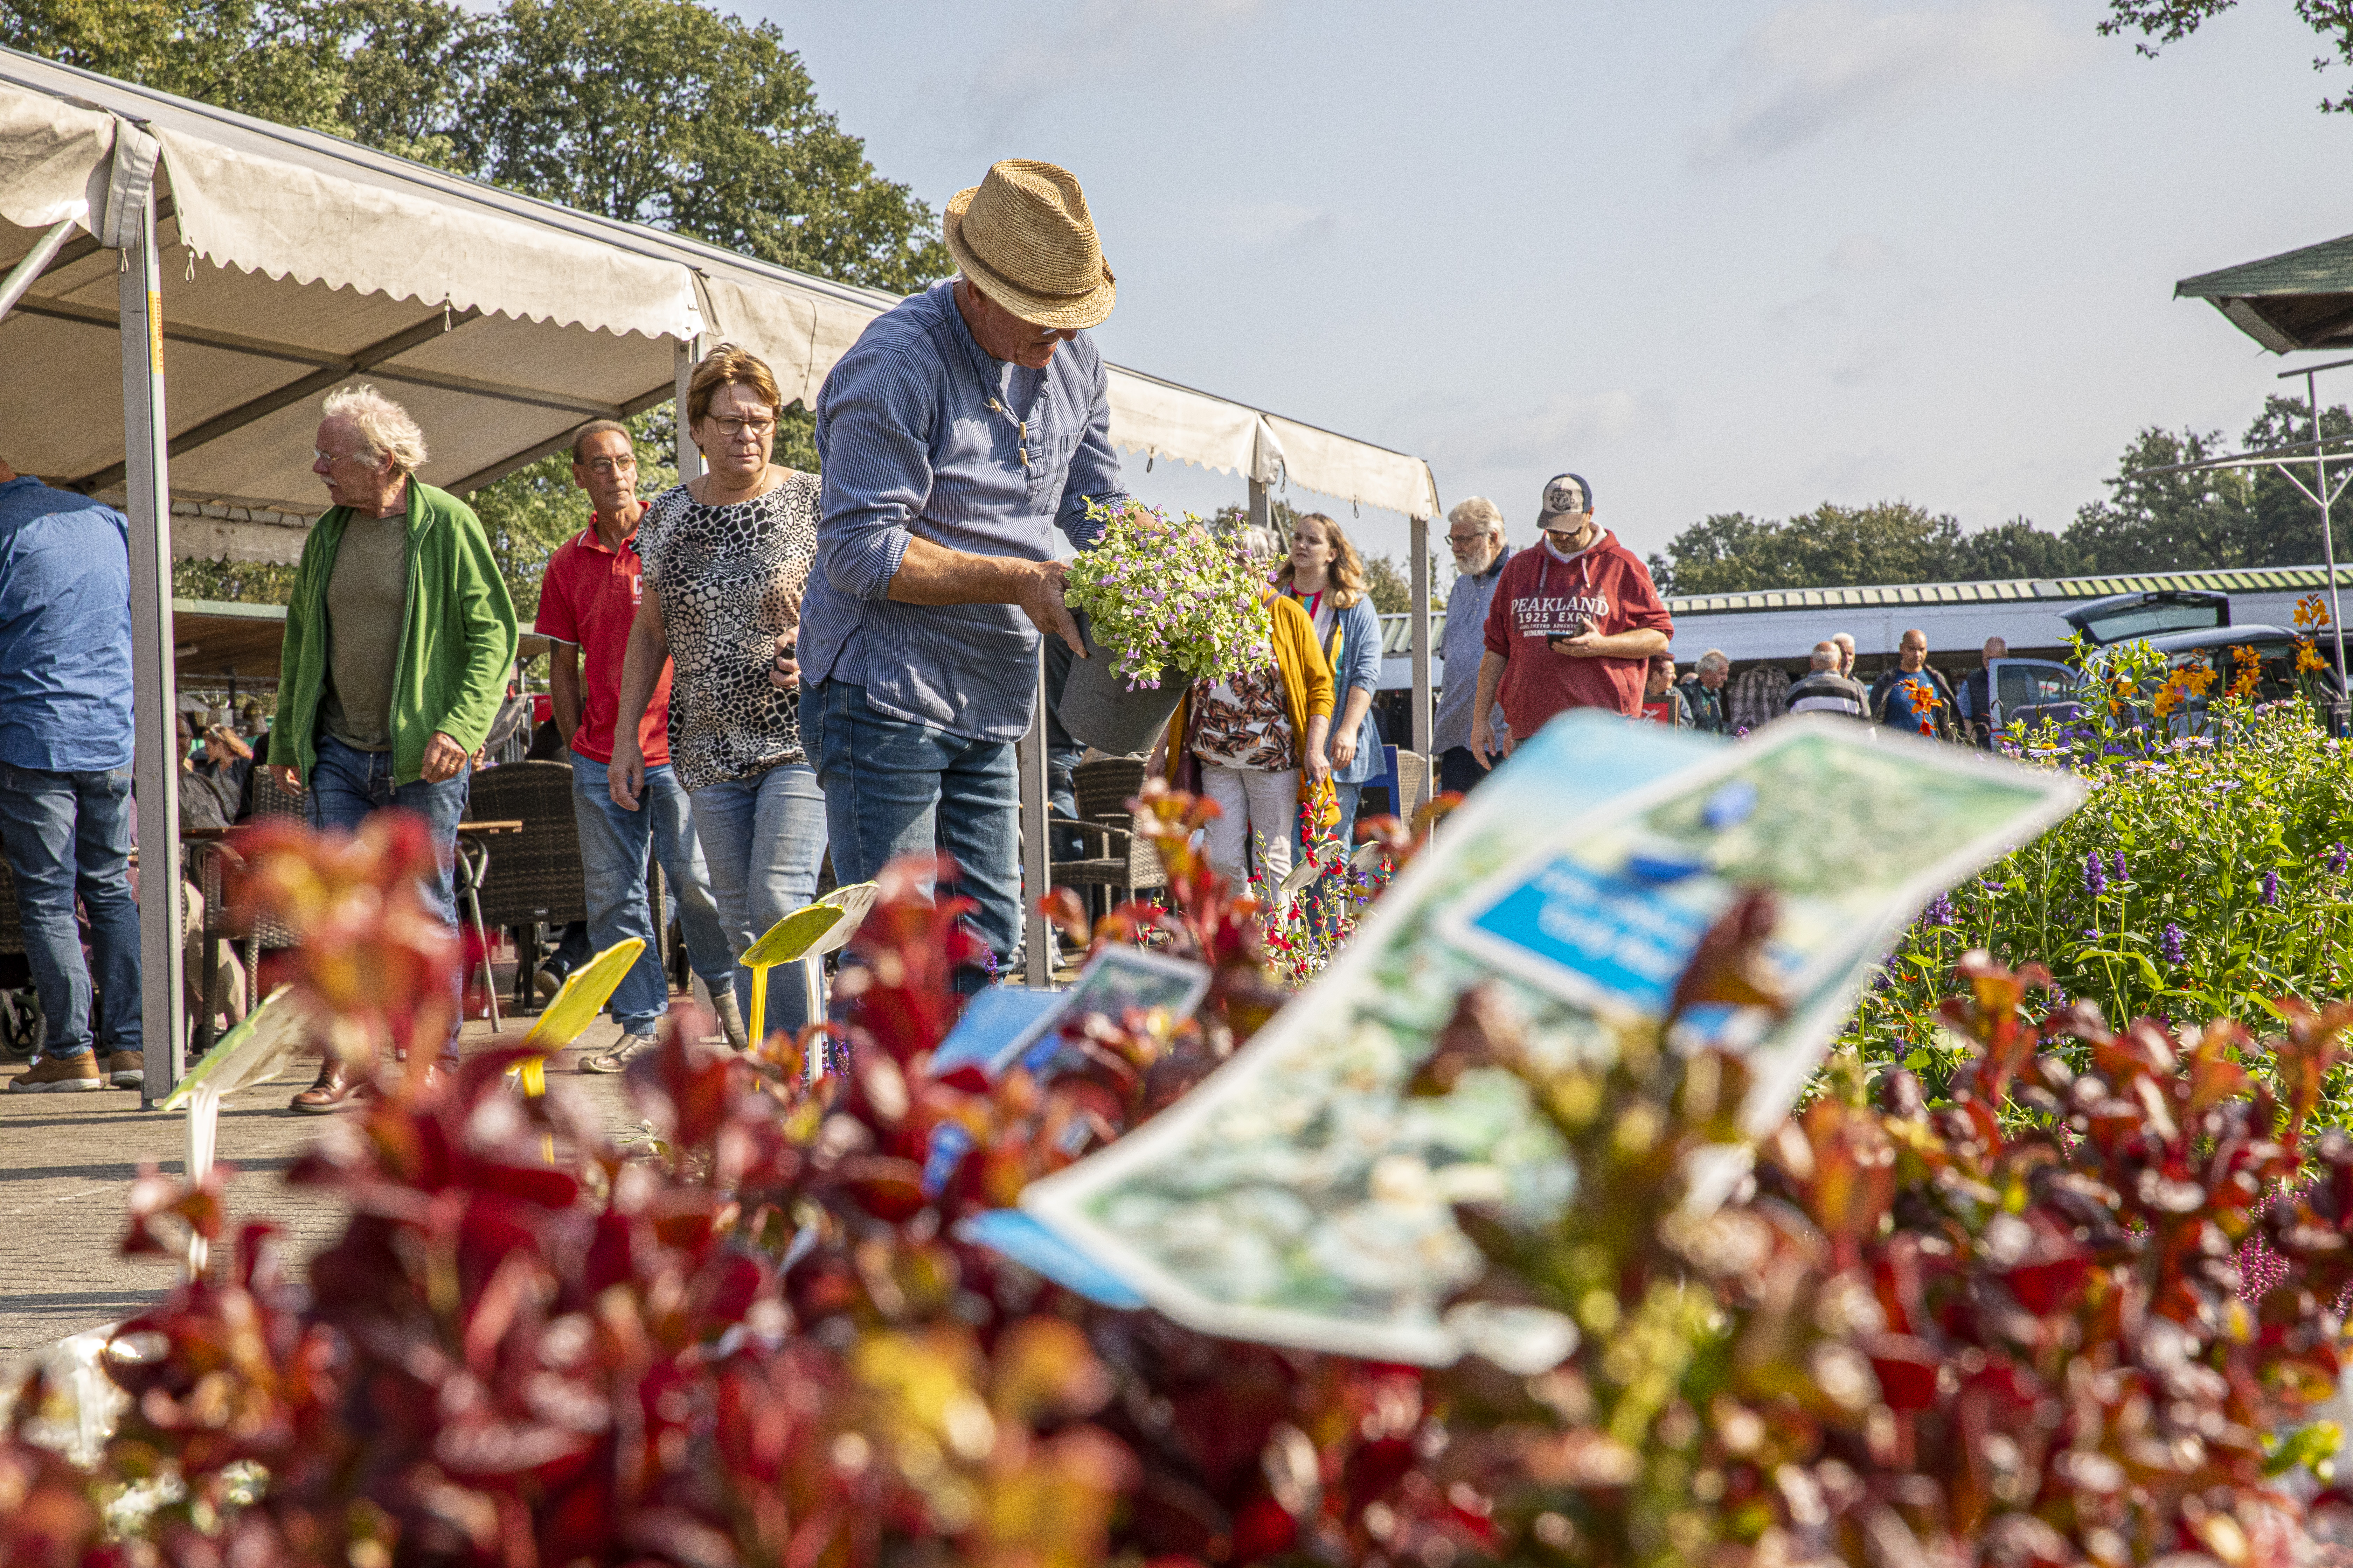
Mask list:
[[[134,233],[122,247],[122,456],[125,515],[132,524],[132,689],[136,750],[132,780],[139,802],[139,999],[146,1084],[141,1107],[158,1105],[179,1084],[179,1041],[186,1032],[179,973],[179,682],[172,675],[172,475],[165,451],[162,296],[155,266],[155,190],[132,212]]]

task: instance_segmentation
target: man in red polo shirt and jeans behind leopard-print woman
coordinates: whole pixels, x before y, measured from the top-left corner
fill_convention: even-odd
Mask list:
[[[645,896],[645,853],[661,858],[678,898],[678,924],[687,933],[687,964],[711,990],[727,1041],[744,1048],[744,1013],[734,999],[734,957],[720,912],[711,900],[704,849],[694,839],[687,792],[671,771],[671,668],[661,668],[654,701],[645,705],[638,748],[645,752],[642,811],[624,811],[605,785],[612,762],[612,726],[621,708],[621,654],[638,618],[642,588],[638,531],[638,451],[628,428],[598,418],[572,437],[572,482],[595,503],[588,527],[558,545],[539,588],[541,637],[553,642],[548,684],[555,693],[555,729],[572,748],[572,818],[581,830],[581,879],[588,891],[588,945],[595,952],[624,938],[645,938],[645,952],[612,994],[621,1041],[581,1063],[588,1072],[616,1072],[652,1039],[671,1006],[671,985],[654,957],[652,910]]]

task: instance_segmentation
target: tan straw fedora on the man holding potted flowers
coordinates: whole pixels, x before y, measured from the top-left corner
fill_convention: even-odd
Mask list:
[[[988,299],[1038,327],[1099,327],[1118,299],[1087,197],[1068,169],[1028,158],[948,200],[948,254]]]

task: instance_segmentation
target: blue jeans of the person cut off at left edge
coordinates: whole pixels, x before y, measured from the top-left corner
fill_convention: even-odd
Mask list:
[[[89,1056],[80,891],[106,997],[106,1048],[139,1051],[139,900],[132,898],[132,771],[45,773],[0,762],[0,849],[16,877],[24,957],[47,1023],[42,1056]],[[160,860],[155,875],[169,875]]]

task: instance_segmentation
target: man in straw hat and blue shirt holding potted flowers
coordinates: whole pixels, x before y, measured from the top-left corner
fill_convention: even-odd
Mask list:
[[[824,515],[800,609],[800,722],[842,882],[946,851],[1000,966],[1021,940],[1014,743],[1038,637],[1080,658],[1054,531],[1120,503],[1111,268],[1066,169],[1009,160],[948,202],[958,277],[866,327],[816,397]],[[793,679],[779,658],[779,682]]]

